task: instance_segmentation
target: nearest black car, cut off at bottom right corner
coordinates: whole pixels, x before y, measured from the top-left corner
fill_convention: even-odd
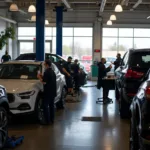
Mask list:
[[[150,150],[150,71],[130,106],[130,150]]]

